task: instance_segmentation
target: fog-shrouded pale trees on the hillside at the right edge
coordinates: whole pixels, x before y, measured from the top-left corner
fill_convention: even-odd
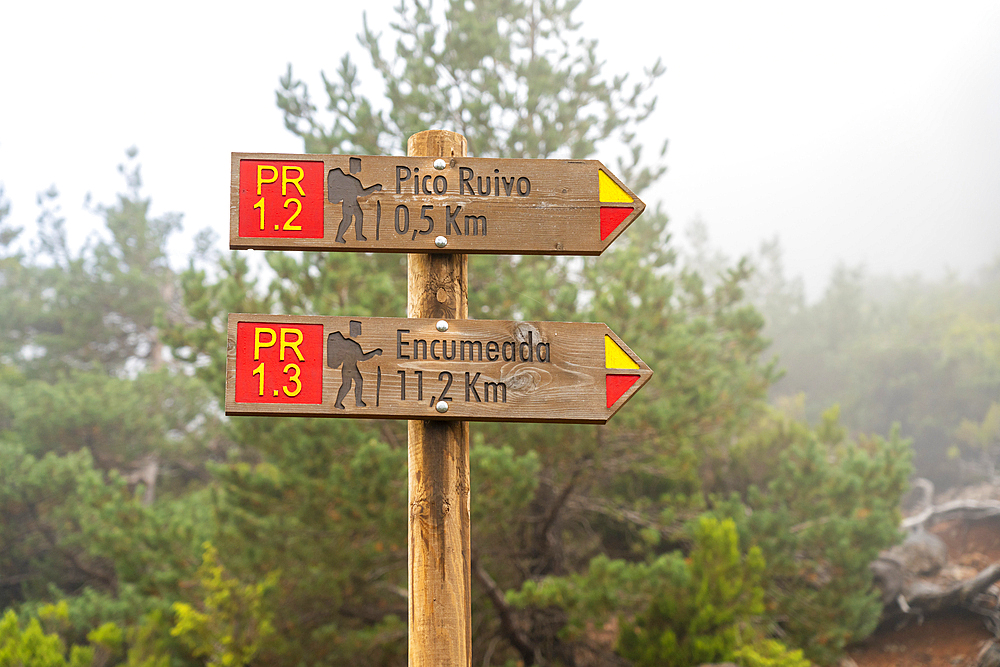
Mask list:
[[[695,263],[726,261],[703,230],[692,234]],[[781,369],[771,403],[811,423],[836,404],[855,433],[898,425],[916,473],[939,488],[995,483],[1000,258],[968,278],[932,281],[840,265],[808,303],[781,255],[776,239],[762,243],[747,286]]]

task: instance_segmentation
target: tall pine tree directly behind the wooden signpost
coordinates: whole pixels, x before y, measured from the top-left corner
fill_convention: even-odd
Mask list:
[[[441,26],[424,5],[403,7],[394,28],[395,60],[383,58],[373,31],[366,27],[362,35],[386,86],[386,110],[360,95],[356,69],[345,57],[337,80],[325,79],[327,106],[334,111],[328,126],[305,85],[291,71],[282,79],[279,106],[286,126],[302,136],[307,151],[381,153],[400,152],[407,134],[443,125],[464,132],[470,152],[500,157],[589,157],[601,141],[622,134],[631,146],[630,162],[620,163],[619,172],[641,190],[662,173],[639,165],[635,138],[637,123],[653,108],[649,82],[626,89],[624,78],[603,79],[596,44],[574,41],[574,7],[452,2]],[[481,24],[483,15],[493,18]],[[655,65],[650,79],[661,71]],[[647,212],[600,260],[501,256],[471,262],[470,312],[476,317],[608,321],[636,341],[648,362],[676,368],[654,376],[643,391],[646,399],[633,401],[609,427],[475,426],[474,517],[509,517],[473,524],[479,659],[486,646],[496,646],[494,638],[504,640],[494,649],[497,658],[499,651],[534,660],[540,651],[568,659],[574,649],[555,632],[558,624],[543,612],[513,610],[502,591],[586,568],[595,553],[645,554],[649,531],[667,542],[684,539],[684,520],[701,511],[699,502],[687,500],[700,488],[697,451],[719,449],[764,396],[770,370],[758,362],[762,322],[740,302],[746,268],[735,268],[718,289],[706,291],[697,276],[677,269],[669,240],[666,217]],[[204,313],[198,335],[207,342],[214,329],[215,350],[224,348],[217,313],[226,310],[403,313],[402,257],[266,258],[274,275],[267,285],[230,268],[238,266],[235,256],[222,262],[226,268],[214,282],[198,271],[183,278],[189,311]],[[175,347],[192,340],[185,335]],[[218,353],[207,345],[192,349],[213,359],[203,371],[215,375],[221,388]],[[295,655],[355,651],[353,660],[363,664],[400,656],[401,425],[238,419],[234,426],[234,439],[265,457],[256,466],[233,466],[222,477],[226,492],[219,511],[235,529],[232,544],[254,545],[245,554],[246,567],[264,572],[281,563],[287,574],[301,570],[296,563],[350,564],[335,577],[324,568],[314,568],[308,580],[290,577],[308,583],[289,589],[276,605],[276,627],[290,632],[279,630],[275,643],[287,637],[287,650],[303,651]],[[346,472],[359,465],[362,476]],[[363,478],[383,480],[384,491],[376,505],[352,510],[352,499],[372,498],[369,487],[358,486]],[[675,495],[684,499],[679,506],[668,500]],[[661,512],[671,516],[664,519]],[[374,544],[372,526],[379,535]],[[381,551],[370,551],[372,546]],[[364,574],[372,570],[380,576]],[[320,607],[327,613],[307,615]],[[513,626],[524,623],[527,636],[519,637]],[[334,633],[337,643],[326,639]]]

